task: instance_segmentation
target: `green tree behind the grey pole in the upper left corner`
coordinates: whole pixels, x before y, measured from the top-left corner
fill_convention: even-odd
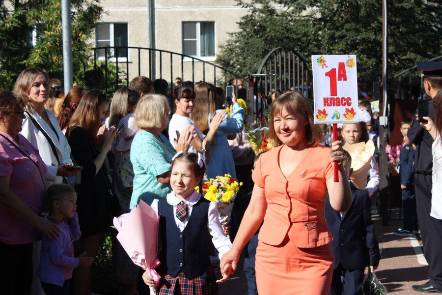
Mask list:
[[[72,56],[74,83],[84,85],[90,60],[88,38],[103,8],[97,0],[72,0]],[[32,34],[36,44],[32,45]],[[40,67],[50,77],[63,78],[60,0],[0,0],[0,87],[12,88],[26,67]]]

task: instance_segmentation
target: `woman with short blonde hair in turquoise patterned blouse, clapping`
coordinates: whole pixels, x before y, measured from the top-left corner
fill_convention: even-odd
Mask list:
[[[170,107],[166,97],[160,94],[143,96],[135,110],[135,123],[140,128],[131,146],[131,163],[134,167],[134,190],[130,208],[139,200],[152,204],[154,199],[165,198],[170,188],[170,162],[176,151],[187,151],[193,137],[193,126],[181,132],[175,148],[161,134],[166,129]]]

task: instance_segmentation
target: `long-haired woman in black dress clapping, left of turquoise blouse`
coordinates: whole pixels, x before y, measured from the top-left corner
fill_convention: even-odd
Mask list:
[[[112,189],[107,154],[117,136],[115,126],[100,127],[109,108],[105,93],[92,89],[84,94],[66,132],[76,164],[83,167],[77,188],[77,212],[82,231],[81,252],[95,257],[102,234],[112,224]],[[92,266],[74,275],[74,294],[90,294]]]

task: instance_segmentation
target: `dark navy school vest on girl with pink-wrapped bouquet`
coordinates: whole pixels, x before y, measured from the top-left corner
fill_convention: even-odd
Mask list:
[[[192,209],[186,228],[180,233],[175,223],[173,206],[165,199],[158,202],[160,214],[160,273],[172,277],[183,270],[187,279],[193,279],[207,270],[210,258],[207,247],[208,212],[210,202],[201,198]]]

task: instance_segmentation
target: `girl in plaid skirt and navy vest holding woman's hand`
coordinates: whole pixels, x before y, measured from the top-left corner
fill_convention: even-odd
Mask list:
[[[154,200],[152,208],[160,215],[161,275],[157,294],[215,295],[218,284],[210,263],[207,235],[222,255],[232,244],[224,235],[218,219],[217,205],[201,198],[194,189],[204,176],[205,166],[195,153],[181,152],[172,159],[170,185],[172,192],[165,199]],[[228,276],[231,265],[222,273]],[[153,286],[145,272],[143,280]]]

